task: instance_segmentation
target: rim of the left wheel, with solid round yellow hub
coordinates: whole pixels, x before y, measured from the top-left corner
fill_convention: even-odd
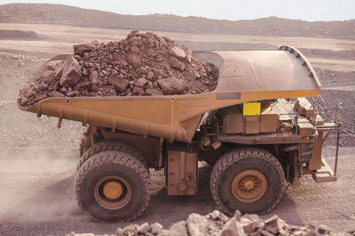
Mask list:
[[[120,176],[106,176],[99,179],[94,187],[94,197],[106,209],[121,209],[132,196],[129,182]]]

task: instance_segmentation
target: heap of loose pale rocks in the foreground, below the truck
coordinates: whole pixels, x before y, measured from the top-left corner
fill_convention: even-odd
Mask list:
[[[95,234],[75,234],[70,232],[67,236],[94,236]],[[170,226],[170,229],[164,229],[159,223],[149,225],[128,225],[118,228],[116,236],[123,235],[166,235],[166,236],[270,236],[270,235],[355,235],[355,232],[335,233],[325,225],[288,225],[280,217],[274,215],[269,219],[263,220],[257,215],[245,214],[237,210],[234,217],[228,218],[217,209],[206,216],[193,213],[185,221],[179,221]]]

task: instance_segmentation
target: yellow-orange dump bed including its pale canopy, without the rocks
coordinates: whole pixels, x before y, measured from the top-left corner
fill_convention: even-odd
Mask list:
[[[28,109],[168,141],[191,142],[204,112],[238,103],[319,95],[320,83],[298,50],[196,51],[219,68],[217,88],[197,95],[47,98]]]

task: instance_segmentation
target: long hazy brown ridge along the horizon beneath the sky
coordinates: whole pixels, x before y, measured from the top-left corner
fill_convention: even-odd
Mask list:
[[[355,38],[355,20],[308,22],[270,17],[219,20],[176,15],[121,15],[60,4],[0,5],[0,23],[68,24],[81,27],[138,28],[209,34]]]

